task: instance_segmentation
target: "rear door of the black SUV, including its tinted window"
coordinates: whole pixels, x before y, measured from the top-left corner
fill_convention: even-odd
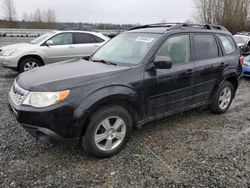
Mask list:
[[[194,100],[196,103],[206,103],[227,62],[214,34],[195,33],[192,38],[195,63]]]

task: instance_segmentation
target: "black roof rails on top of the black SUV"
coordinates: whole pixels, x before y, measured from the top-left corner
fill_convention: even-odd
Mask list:
[[[189,23],[155,23],[142,25],[138,27],[134,27],[130,30],[135,29],[143,29],[143,28],[155,28],[155,27],[166,27],[167,30],[175,30],[181,28],[198,28],[198,29],[209,29],[209,30],[223,30],[228,31],[225,27],[220,25],[212,25],[212,24],[189,24]]]

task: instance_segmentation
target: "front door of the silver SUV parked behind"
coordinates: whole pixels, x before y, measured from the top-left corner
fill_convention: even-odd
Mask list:
[[[53,44],[49,46],[42,46],[48,63],[54,63],[74,58],[72,33],[60,33],[50,38],[49,40],[51,40]]]

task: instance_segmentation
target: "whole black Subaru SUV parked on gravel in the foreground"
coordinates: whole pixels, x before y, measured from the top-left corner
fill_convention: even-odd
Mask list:
[[[203,105],[226,112],[241,70],[239,49],[222,26],[145,25],[90,57],[19,75],[9,108],[42,142],[80,143],[92,156],[109,157],[147,122]]]

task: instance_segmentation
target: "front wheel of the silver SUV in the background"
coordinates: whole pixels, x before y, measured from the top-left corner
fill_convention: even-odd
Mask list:
[[[33,58],[33,57],[29,57],[21,61],[21,63],[19,64],[18,70],[19,70],[19,73],[22,73],[22,72],[29,71],[35,67],[41,67],[41,66],[42,66],[42,62],[40,60]]]

